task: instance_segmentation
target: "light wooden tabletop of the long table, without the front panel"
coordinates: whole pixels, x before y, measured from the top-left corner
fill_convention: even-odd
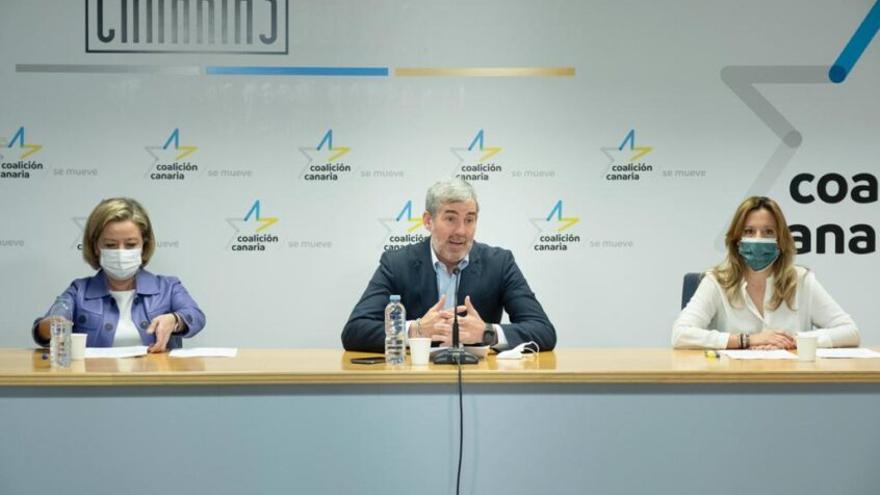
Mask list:
[[[375,354],[332,349],[241,349],[235,358],[87,359],[53,370],[45,352],[0,349],[0,386],[453,383],[454,366],[352,364]],[[407,358],[408,359],[408,358]],[[880,359],[746,361],[700,351],[559,349],[519,361],[490,355],[466,383],[880,383]]]

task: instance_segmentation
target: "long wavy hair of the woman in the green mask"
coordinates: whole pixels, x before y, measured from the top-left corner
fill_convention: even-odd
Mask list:
[[[795,245],[791,230],[785,221],[782,209],[776,201],[766,196],[752,196],[740,203],[727,229],[725,245],[727,257],[712,269],[712,274],[721,285],[727,300],[731,304],[744,303],[739,291],[740,283],[745,277],[746,263],[739,254],[739,241],[745,230],[746,218],[756,210],[767,210],[776,220],[776,243],[779,246],[779,257],[771,266],[773,274],[773,298],[770,309],[779,308],[783,301],[790,309],[794,309],[794,297],[797,291],[797,272],[794,268]]]

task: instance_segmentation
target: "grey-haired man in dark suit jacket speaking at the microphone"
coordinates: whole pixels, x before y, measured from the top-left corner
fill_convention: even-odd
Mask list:
[[[415,317],[408,322],[409,334],[429,336],[439,345],[452,343],[457,310],[463,344],[500,350],[533,341],[542,351],[556,346],[556,330],[513,254],[474,242],[478,213],[476,193],[467,182],[449,179],[431,186],[422,214],[431,236],[382,255],[342,331],[345,349],[384,351],[385,305],[392,294],[399,294],[408,317]],[[459,301],[463,304],[456,309]],[[500,324],[502,310],[510,323]]]

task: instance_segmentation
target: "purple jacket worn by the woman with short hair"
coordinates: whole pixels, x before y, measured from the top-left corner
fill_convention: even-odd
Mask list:
[[[199,333],[205,327],[205,314],[177,277],[153,275],[141,269],[135,275],[135,296],[131,304],[131,319],[141,335],[144,345],[156,342],[155,334],[148,334],[147,327],[153,318],[165,313],[177,313],[186,322],[186,331],[171,336],[168,348],[183,346],[183,338]],[[112,347],[119,322],[119,308],[107,289],[104,271],[99,270],[92,277],[74,280],[61,296],[73,309],[66,315],[73,322],[75,333],[87,334],[86,346]],[[32,334],[34,341],[42,346],[49,345],[37,335],[37,324],[46,315],[34,321]]]

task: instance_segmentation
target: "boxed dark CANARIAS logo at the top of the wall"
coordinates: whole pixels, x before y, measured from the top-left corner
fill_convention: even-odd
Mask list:
[[[287,54],[289,0],[86,0],[86,53]]]

